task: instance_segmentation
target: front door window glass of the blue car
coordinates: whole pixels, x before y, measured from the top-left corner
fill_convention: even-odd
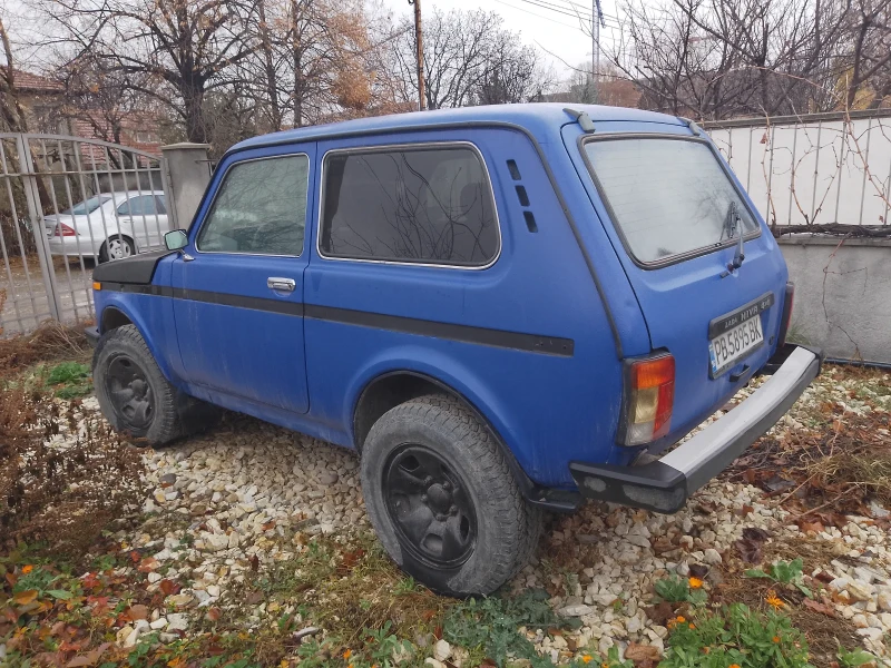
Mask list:
[[[198,250],[303,253],[310,158],[305,154],[232,166],[198,233]]]

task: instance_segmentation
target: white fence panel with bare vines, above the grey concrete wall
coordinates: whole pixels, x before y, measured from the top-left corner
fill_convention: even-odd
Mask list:
[[[768,223],[889,224],[891,109],[704,127]]]

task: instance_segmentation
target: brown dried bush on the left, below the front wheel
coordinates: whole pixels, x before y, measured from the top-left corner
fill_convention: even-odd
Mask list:
[[[79,401],[0,387],[0,552],[39,542],[77,561],[145,498],[143,460]]]

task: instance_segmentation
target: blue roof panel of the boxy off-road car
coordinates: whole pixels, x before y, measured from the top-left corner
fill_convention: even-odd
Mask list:
[[[317,140],[344,135],[362,135],[394,129],[420,129],[453,124],[512,124],[535,131],[542,126],[559,127],[571,122],[572,117],[564,109],[586,111],[597,121],[639,121],[681,125],[676,116],[629,109],[626,107],[604,107],[599,105],[572,105],[558,102],[529,102],[522,105],[490,105],[482,107],[461,107],[458,109],[437,109],[433,111],[412,111],[390,116],[373,116],[355,120],[344,120],[317,126],[307,126],[252,137],[232,147],[232,151],[276,144]]]

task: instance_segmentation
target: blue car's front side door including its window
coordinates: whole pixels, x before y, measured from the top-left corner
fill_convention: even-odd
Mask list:
[[[187,382],[305,413],[304,233],[315,146],[276,151],[236,154],[217,168],[174,262],[174,315]]]

